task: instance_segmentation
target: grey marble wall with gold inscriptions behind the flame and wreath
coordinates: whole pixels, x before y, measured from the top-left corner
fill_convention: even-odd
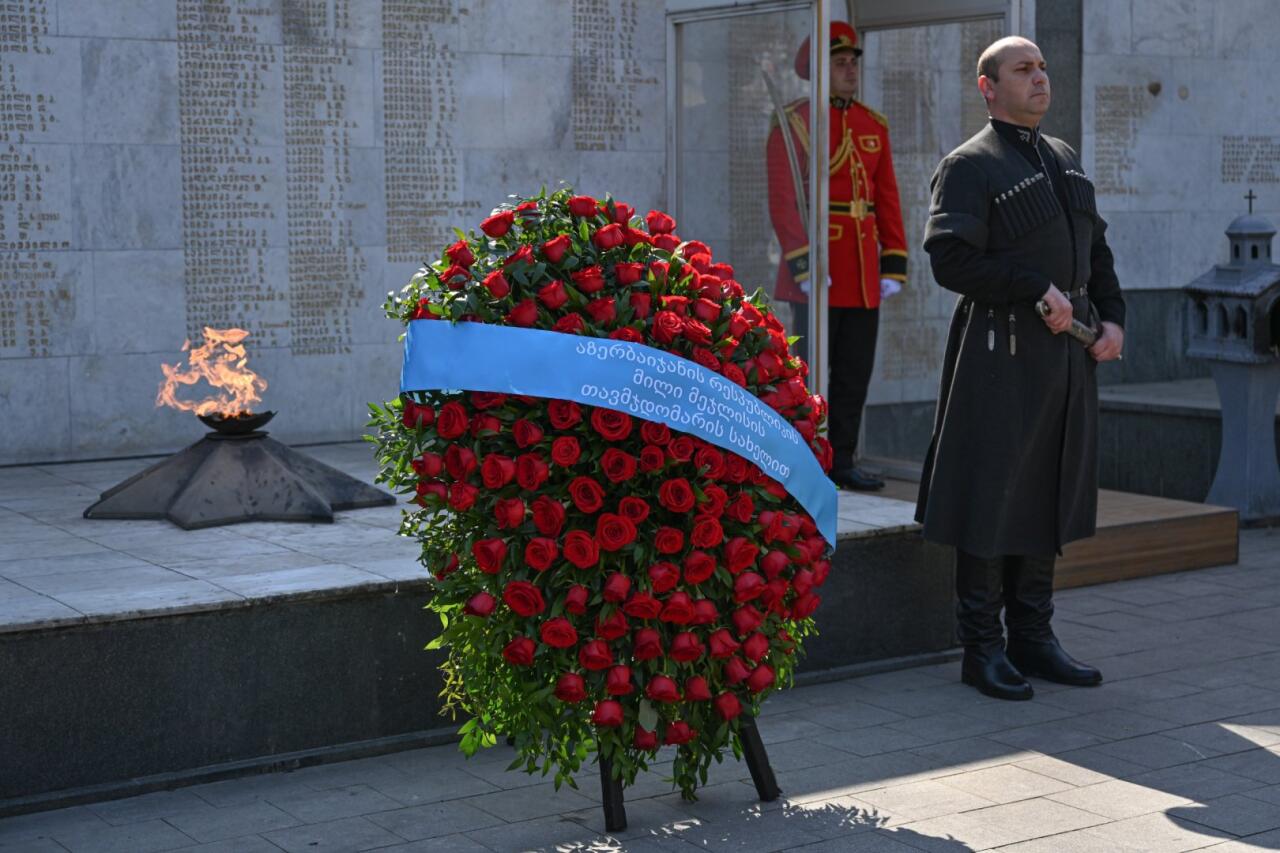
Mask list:
[[[177,450],[241,327],[278,438],[396,394],[381,318],[508,192],[664,196],[662,0],[0,4],[0,464]]]

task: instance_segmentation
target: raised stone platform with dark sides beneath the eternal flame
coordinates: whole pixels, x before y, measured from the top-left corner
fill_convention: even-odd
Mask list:
[[[371,482],[367,444],[306,452]],[[82,517],[154,461],[0,467],[0,813],[453,736],[398,507],[193,532]],[[950,654],[950,560],[913,508],[841,496],[805,678]]]

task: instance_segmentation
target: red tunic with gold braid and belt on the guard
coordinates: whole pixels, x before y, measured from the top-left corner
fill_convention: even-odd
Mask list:
[[[786,114],[808,192],[808,99],[788,104]],[[767,151],[769,214],[782,245],[774,297],[806,302],[797,282],[809,278],[809,234],[800,224],[786,143],[776,120]],[[829,305],[877,307],[879,279],[906,280],[906,234],[890,155],[888,123],[858,101],[849,101],[845,108],[831,106],[829,192]]]

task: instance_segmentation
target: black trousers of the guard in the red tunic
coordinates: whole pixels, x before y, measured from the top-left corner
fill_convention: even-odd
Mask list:
[[[808,350],[809,306],[792,302],[791,334],[800,336],[792,352],[804,356]],[[827,309],[827,429],[835,451],[836,467],[851,465],[858,455],[858,429],[863,423],[867,388],[876,368],[876,336],[879,332],[879,309]]]

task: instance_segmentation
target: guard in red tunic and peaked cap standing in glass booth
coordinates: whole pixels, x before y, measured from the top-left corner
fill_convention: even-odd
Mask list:
[[[856,31],[831,23],[831,280],[829,416],[835,465],[831,479],[844,488],[872,491],[884,483],[856,464],[858,429],[867,387],[876,366],[876,333],[882,298],[906,280],[906,234],[890,155],[888,123],[855,100],[858,93]],[[796,73],[809,79],[809,40],[796,54]],[[774,117],[768,141],[769,213],[782,246],[774,298],[794,306],[792,334],[808,333],[809,234],[800,209],[809,195],[809,100],[788,104],[787,132],[794,142],[804,196],[797,192],[782,129]]]

